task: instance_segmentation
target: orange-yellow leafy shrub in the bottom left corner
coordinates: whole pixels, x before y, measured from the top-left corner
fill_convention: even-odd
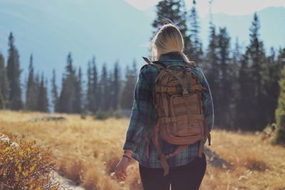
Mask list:
[[[50,175],[55,168],[49,148],[36,142],[14,142],[15,135],[0,137],[0,189],[59,189]]]

